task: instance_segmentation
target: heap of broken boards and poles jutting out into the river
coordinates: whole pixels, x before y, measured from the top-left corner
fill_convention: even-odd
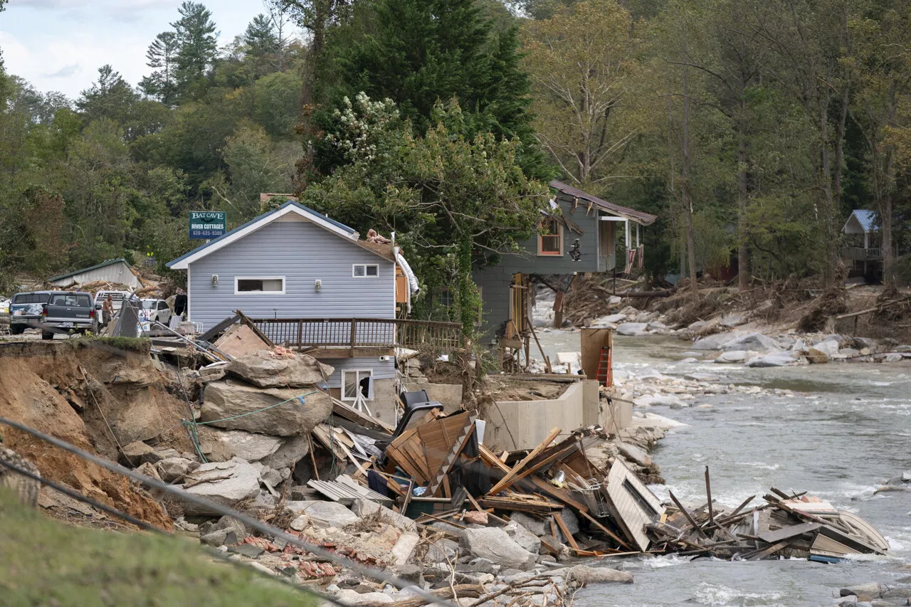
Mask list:
[[[772,488],[765,503],[746,509],[755,496],[733,510],[716,509],[711,501],[686,509],[673,493],[676,509],[647,526],[653,551],[711,556],[735,561],[798,558],[837,562],[852,554],[885,554],[889,544],[853,512],[837,510],[803,493],[788,495]]]

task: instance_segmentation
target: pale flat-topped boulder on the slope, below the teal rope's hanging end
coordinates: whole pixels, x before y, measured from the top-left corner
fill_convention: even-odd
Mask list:
[[[202,464],[187,475],[184,490],[190,495],[209,499],[221,506],[233,506],[241,499],[260,492],[260,473],[242,459]],[[186,515],[218,515],[219,511],[183,500]]]

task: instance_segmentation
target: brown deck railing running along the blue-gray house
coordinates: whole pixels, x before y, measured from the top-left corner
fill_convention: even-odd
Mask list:
[[[273,343],[288,347],[457,348],[462,325],[384,318],[254,318]]]

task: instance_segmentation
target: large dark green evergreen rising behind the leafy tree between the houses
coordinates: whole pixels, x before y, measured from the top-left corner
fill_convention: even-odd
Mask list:
[[[333,70],[341,86],[330,101],[359,91],[391,98],[424,131],[435,122],[436,102],[457,98],[462,134],[473,138],[489,130],[518,138],[523,169],[542,174],[515,28],[496,34],[473,0],[379,0],[369,31],[354,41],[334,37],[339,58],[324,69]]]

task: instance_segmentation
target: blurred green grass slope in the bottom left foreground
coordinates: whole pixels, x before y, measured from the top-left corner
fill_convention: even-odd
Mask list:
[[[0,489],[0,604],[311,607],[316,601],[212,557],[189,539],[77,528]]]

